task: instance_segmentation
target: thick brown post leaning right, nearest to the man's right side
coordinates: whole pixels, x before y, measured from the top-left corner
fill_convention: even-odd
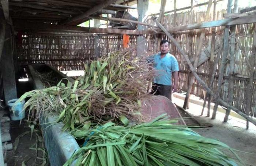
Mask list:
[[[209,0],[209,2],[208,2],[208,7],[207,7],[207,11],[206,11],[206,15],[205,15],[205,20],[208,20],[208,19],[209,19],[211,5],[212,5],[212,0]],[[202,29],[201,34],[200,34],[200,38],[199,38],[199,44],[197,45],[195,61],[194,61],[194,64],[193,64],[193,67],[194,67],[195,69],[196,69],[197,64],[198,64],[199,56],[200,56],[200,54],[201,54],[201,52],[202,52],[202,47],[203,47],[203,43],[204,43],[205,32],[206,32],[206,29]],[[190,80],[189,80],[188,90],[187,90],[187,94],[186,94],[185,101],[184,101],[184,105],[183,105],[183,108],[184,108],[184,109],[187,109],[188,102],[189,102],[189,97],[190,97],[190,93],[191,93],[192,86],[193,86],[193,80],[194,80],[193,74],[192,74],[192,73],[189,73],[189,75],[190,75],[190,76],[189,76],[189,77],[190,77]]]

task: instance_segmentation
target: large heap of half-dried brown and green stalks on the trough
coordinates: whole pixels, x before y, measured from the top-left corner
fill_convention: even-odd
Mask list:
[[[74,84],[60,82],[54,87],[30,91],[19,101],[30,97],[24,108],[29,107],[30,117],[37,120],[41,112],[56,114],[65,123],[64,129],[123,116],[139,122],[140,101],[150,96],[146,85],[154,70],[129,53],[116,52],[91,61],[84,66],[84,76]]]

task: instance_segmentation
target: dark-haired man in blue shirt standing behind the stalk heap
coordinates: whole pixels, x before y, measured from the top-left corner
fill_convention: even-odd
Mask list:
[[[151,93],[162,95],[172,100],[172,92],[178,89],[178,61],[169,53],[169,41],[162,40],[160,42],[160,52],[147,57],[148,62],[153,63],[157,70]],[[172,83],[172,75],[174,83]]]

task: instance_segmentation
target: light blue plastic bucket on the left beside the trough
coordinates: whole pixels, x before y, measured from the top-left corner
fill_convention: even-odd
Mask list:
[[[25,104],[25,101],[23,100],[22,102],[18,102],[15,106],[14,106],[14,103],[17,101],[18,99],[12,99],[12,100],[9,100],[7,102],[7,105],[9,107],[9,110],[11,112],[11,120],[22,120],[23,118],[25,118],[25,111],[22,111],[23,110],[23,107],[24,107],[24,104]],[[12,106],[13,109],[12,109]]]

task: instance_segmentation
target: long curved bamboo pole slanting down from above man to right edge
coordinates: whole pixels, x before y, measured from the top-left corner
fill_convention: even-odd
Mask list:
[[[162,24],[160,24],[156,19],[153,19],[154,22],[157,24],[157,26],[162,29],[162,31],[171,39],[171,41],[173,42],[173,44],[178,48],[178,50],[180,51],[181,55],[184,57],[184,59],[187,61],[189,69],[191,70],[191,72],[193,73],[193,75],[195,76],[195,78],[197,79],[197,81],[199,83],[202,84],[202,86],[204,87],[204,89],[210,94],[212,95],[212,97],[214,97],[218,102],[220,102],[223,106],[225,107],[230,107],[232,110],[234,110],[236,113],[238,113],[239,115],[241,115],[242,117],[244,117],[245,119],[249,120],[250,122],[252,122],[252,124],[256,125],[256,121],[249,117],[248,115],[246,115],[245,113],[241,112],[239,109],[229,105],[227,102],[223,101],[222,99],[220,99],[218,97],[218,95],[216,95],[209,87],[207,87],[207,85],[203,82],[203,80],[197,75],[195,68],[193,67],[191,61],[189,60],[188,56],[185,54],[184,50],[182,50],[181,46],[178,44],[178,42],[172,37],[172,35],[170,35],[170,33],[165,29],[165,27],[162,26]]]

